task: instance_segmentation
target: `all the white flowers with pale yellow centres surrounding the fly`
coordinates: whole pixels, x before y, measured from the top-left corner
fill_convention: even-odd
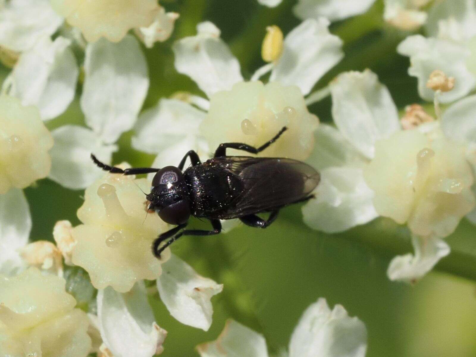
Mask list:
[[[378,216],[407,224],[415,255],[392,260],[393,280],[415,281],[449,254],[443,238],[465,216],[476,223],[476,96],[468,97],[476,86],[476,0],[385,1],[387,22],[404,30],[426,23],[429,36],[408,36],[397,51],[410,58],[408,73],[417,77],[421,98],[434,102],[436,120],[413,105],[401,122],[388,89],[370,70],[341,73],[311,92],[344,57],[330,21],[362,14],[374,1],[298,1],[294,12],[303,21],[286,36],[268,28],[262,47],[268,63],[249,79],[220,30],[199,23],[197,34],[176,41],[173,51],[176,70],[204,96],[179,92],[140,114],[149,75],[139,40],[150,48],[169,38],[177,14],[155,0],[0,2],[0,60],[12,67],[0,95],[0,356],[161,353],[167,331],[155,321],[144,280],[156,280],[178,321],[210,327],[210,299],[223,286],[169,249],[161,259],[151,252],[152,241],[169,228],[147,216],[143,192],[151,177],[102,176],[90,162],[91,152],[110,162],[130,129],[132,146],[156,154],[153,166],[164,167],[177,165],[189,149],[208,159],[221,142],[258,147],[286,126],[260,155],[306,160],[320,171],[315,198],[303,207],[309,227],[334,233]],[[79,81],[88,127],[64,125],[50,133],[43,121],[68,110]],[[328,95],[335,127],[319,124],[307,108]],[[456,100],[441,113],[440,103]],[[31,218],[21,189],[45,177],[86,188],[81,224],[59,221],[56,245],[28,244]],[[88,272],[97,310],[76,307],[63,264]],[[20,291],[27,291],[22,299]],[[299,321],[288,356],[363,357],[366,339],[360,320],[319,299]],[[233,321],[198,352],[268,356],[264,338]]]

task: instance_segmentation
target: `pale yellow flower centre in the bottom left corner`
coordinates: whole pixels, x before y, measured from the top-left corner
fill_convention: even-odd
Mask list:
[[[75,305],[58,276],[0,276],[0,356],[86,357],[89,320]]]

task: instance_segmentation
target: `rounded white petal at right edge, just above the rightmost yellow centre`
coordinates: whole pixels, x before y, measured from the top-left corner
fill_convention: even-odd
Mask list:
[[[476,143],[476,95],[457,101],[446,109],[441,129],[448,138]]]

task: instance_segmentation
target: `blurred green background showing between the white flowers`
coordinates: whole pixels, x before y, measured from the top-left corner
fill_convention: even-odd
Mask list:
[[[144,108],[178,90],[203,95],[188,77],[175,71],[171,50],[174,40],[196,33],[198,22],[210,20],[220,28],[249,79],[263,65],[260,46],[266,26],[278,25],[286,35],[299,23],[291,12],[295,2],[284,0],[269,9],[256,0],[161,1],[180,18],[170,40],[144,49],[150,75]],[[377,0],[367,14],[332,24],[331,31],[345,42],[346,57],[316,89],[341,71],[370,68],[390,89],[399,110],[421,102],[416,79],[407,75],[408,59],[396,53],[408,33],[388,28],[382,12],[382,2]],[[1,68],[1,77],[7,73]],[[325,99],[310,111],[322,122],[330,122],[330,105],[330,99]],[[431,110],[431,103],[426,107]],[[47,126],[54,129],[64,123],[84,125],[78,97]],[[153,156],[131,149],[130,137],[131,132],[122,135],[114,163],[125,160],[133,166],[149,166]],[[33,216],[33,240],[51,239],[57,220],[79,223],[76,210],[82,191],[43,179],[25,192]],[[307,228],[297,205],[283,209],[266,230],[239,227],[216,237],[181,238],[172,251],[225,287],[212,300],[215,312],[208,332],[178,323],[157,295],[150,297],[158,324],[169,331],[162,356],[196,356],[194,347],[215,339],[227,318],[263,333],[269,350],[277,353],[287,348],[297,320],[318,297],[326,297],[331,306],[342,304],[351,316],[365,322],[368,357],[476,356],[476,228],[463,220],[447,241],[451,255],[416,286],[408,286],[390,282],[386,275],[393,256],[412,250],[407,230],[384,218],[327,235]]]

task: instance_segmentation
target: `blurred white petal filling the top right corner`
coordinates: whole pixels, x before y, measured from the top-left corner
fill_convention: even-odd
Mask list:
[[[442,27],[456,25],[461,40],[476,35],[476,2],[474,0],[436,1],[428,11],[426,32],[429,36],[441,36]]]

